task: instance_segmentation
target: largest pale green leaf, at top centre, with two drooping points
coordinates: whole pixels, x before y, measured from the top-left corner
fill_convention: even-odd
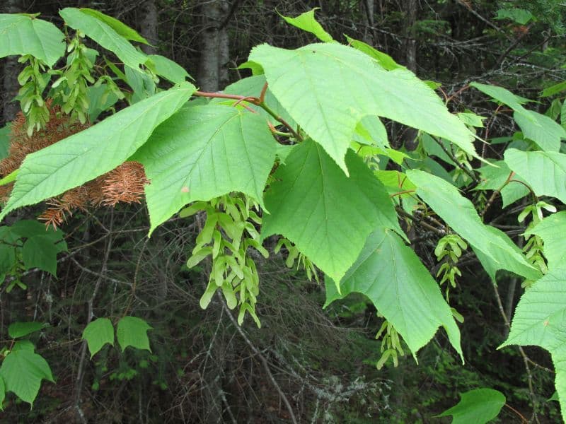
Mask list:
[[[386,71],[337,43],[296,50],[260,45],[250,60],[261,64],[277,100],[345,172],[354,129],[372,114],[449,139],[475,155],[466,126],[410,71]]]

